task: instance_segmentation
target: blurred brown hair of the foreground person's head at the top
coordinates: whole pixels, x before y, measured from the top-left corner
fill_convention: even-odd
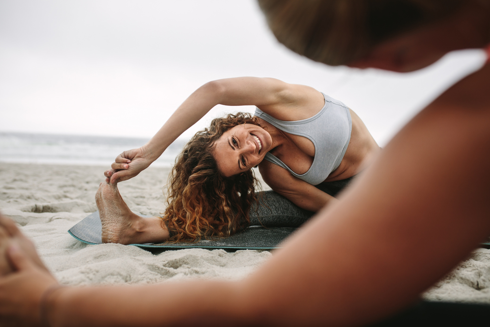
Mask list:
[[[463,0],[258,0],[277,40],[327,65],[454,12]]]

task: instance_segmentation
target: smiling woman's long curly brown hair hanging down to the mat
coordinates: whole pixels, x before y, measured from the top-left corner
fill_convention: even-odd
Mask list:
[[[163,222],[170,241],[198,241],[227,237],[247,227],[248,212],[257,201],[258,180],[252,170],[225,177],[213,156],[214,143],[231,127],[258,125],[248,113],[216,118],[197,132],[177,157],[169,178]]]

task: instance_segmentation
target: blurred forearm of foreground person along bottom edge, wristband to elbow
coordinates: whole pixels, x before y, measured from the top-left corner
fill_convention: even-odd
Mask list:
[[[192,280],[66,287],[46,303],[52,327],[241,326],[250,322],[243,283]]]

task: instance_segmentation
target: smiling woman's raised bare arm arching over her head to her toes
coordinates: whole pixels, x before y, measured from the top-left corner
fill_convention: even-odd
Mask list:
[[[112,174],[111,182],[138,175],[155,161],[189,127],[197,123],[215,105],[256,105],[266,112],[286,112],[288,108],[308,108],[308,102],[321,94],[311,87],[288,84],[275,78],[235,77],[208,82],[199,87],[172,114],[160,130],[138,149],[124,151],[112,164],[121,169]],[[285,110],[286,109],[286,110]],[[308,115],[307,110],[301,114]],[[308,116],[310,117],[310,116]]]

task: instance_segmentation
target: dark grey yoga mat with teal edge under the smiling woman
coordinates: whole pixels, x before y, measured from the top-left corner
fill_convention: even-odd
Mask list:
[[[145,217],[145,216],[143,216]],[[146,216],[147,217],[147,216]],[[205,249],[236,249],[236,250],[258,250],[258,249],[277,249],[279,244],[296,228],[291,227],[263,227],[250,226],[243,232],[232,235],[228,238],[217,240],[203,240],[196,243],[147,243],[130,244],[140,248],[168,248],[169,250],[205,248]],[[88,215],[78,224],[68,230],[77,240],[87,244],[102,243],[102,225],[98,211]],[[164,250],[164,249],[162,249]]]

